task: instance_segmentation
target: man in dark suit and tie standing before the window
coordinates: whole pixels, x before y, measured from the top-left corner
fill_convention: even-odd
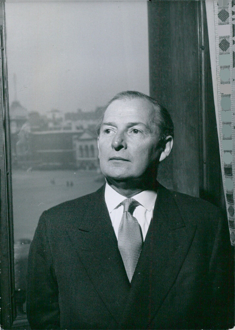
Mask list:
[[[227,223],[156,181],[171,152],[167,111],[117,94],[98,128],[106,184],[43,213],[31,244],[32,329],[227,329]]]

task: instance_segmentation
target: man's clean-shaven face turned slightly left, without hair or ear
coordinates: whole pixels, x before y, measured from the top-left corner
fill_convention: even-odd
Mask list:
[[[159,155],[153,106],[143,99],[116,100],[105,114],[98,138],[100,168],[112,179],[141,178]]]

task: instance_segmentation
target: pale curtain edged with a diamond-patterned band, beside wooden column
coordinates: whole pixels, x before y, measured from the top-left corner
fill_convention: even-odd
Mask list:
[[[235,6],[229,0],[206,0],[206,12],[223,188],[230,240],[234,246]]]

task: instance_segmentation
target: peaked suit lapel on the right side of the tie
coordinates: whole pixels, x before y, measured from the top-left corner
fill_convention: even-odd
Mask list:
[[[160,186],[120,328],[150,325],[177,278],[195,230],[185,227],[172,193]]]

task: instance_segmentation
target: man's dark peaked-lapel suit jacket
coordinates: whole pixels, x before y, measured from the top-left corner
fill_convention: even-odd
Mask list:
[[[104,187],[45,211],[29,252],[31,328],[228,329],[227,227],[215,206],[159,186],[130,284]]]

